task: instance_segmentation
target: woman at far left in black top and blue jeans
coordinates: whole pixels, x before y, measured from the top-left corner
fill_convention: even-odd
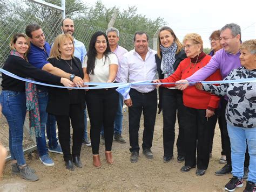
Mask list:
[[[30,65],[26,58],[29,47],[28,36],[23,33],[15,33],[10,42],[11,53],[5,61],[3,69],[20,77],[32,77],[49,83],[61,82],[64,86],[73,86],[68,79],[57,77]],[[35,174],[35,170],[26,164],[22,147],[23,124],[26,116],[25,82],[3,74],[2,87],[2,112],[9,125],[12,173],[21,175],[25,180],[36,181],[38,176]]]

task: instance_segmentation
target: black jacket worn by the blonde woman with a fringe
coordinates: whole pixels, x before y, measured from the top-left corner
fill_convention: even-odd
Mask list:
[[[62,70],[64,70],[65,69],[64,67],[66,67],[66,65],[63,65],[62,62],[60,62],[55,58],[49,59],[49,62],[54,67],[57,67]],[[84,73],[82,69],[82,63],[78,58],[73,59],[72,62],[73,62],[73,65],[76,65],[77,68],[79,69],[79,73],[75,75],[83,79]],[[67,72],[67,73],[70,73],[70,72]],[[70,91],[76,91],[76,92],[73,92],[77,94],[76,97],[78,98],[77,99],[78,101],[75,101],[75,102],[81,106],[81,110],[85,109],[85,90],[84,89],[68,90],[68,89],[62,89],[62,88],[49,88],[49,100],[48,100],[46,111],[53,115],[69,116],[69,108],[71,104]]]

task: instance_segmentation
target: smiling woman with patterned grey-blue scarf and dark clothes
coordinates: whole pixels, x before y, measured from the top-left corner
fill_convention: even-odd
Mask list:
[[[156,63],[159,79],[164,79],[172,75],[186,58],[182,44],[173,30],[164,26],[161,27],[158,35],[158,47]],[[179,134],[177,139],[178,162],[185,159],[184,147],[184,104],[182,91],[173,88],[159,87],[159,113],[163,109],[163,139],[164,139],[164,162],[169,162],[173,158],[173,145],[175,140],[175,122],[178,109]]]

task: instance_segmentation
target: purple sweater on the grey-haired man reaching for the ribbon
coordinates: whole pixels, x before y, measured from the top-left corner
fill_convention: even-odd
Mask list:
[[[205,67],[199,69],[186,80],[189,82],[204,81],[217,69],[220,69],[220,74],[222,78],[225,79],[233,69],[241,67],[239,56],[240,51],[233,55],[225,52],[224,48],[219,49]]]

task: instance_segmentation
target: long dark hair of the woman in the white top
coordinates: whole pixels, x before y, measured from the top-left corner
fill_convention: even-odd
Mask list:
[[[97,51],[95,48],[95,43],[97,40],[97,37],[100,35],[104,35],[106,42],[107,42],[107,48],[106,51],[103,53],[103,58],[105,56],[105,58],[108,58],[107,54],[111,53],[110,47],[109,47],[109,40],[107,40],[107,35],[106,33],[102,32],[102,31],[96,31],[95,33],[93,33],[91,40],[90,40],[90,44],[89,44],[89,49],[87,52],[87,74],[92,74],[94,75],[94,69],[95,69],[95,62],[96,62],[96,55],[97,55]],[[105,59],[106,61],[106,59]],[[104,63],[105,63],[104,61]]]

